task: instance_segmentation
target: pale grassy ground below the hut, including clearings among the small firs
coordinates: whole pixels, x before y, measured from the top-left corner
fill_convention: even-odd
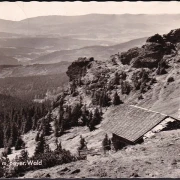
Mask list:
[[[57,116],[57,110],[54,110],[54,116]],[[102,123],[106,122],[106,118]],[[79,145],[79,135],[83,135],[88,142],[88,149],[94,152],[88,155],[87,160],[73,162],[55,166],[48,169],[30,171],[25,174],[25,178],[42,178],[47,174],[51,178],[82,178],[82,177],[111,177],[122,178],[131,177],[137,174],[139,177],[180,177],[180,130],[164,131],[155,134],[155,136],[146,139],[143,144],[128,146],[127,148],[111,152],[109,155],[103,155],[101,142],[106,132],[98,129],[89,132],[86,127],[75,127],[67,131],[59,139],[62,146],[77,154]],[[26,149],[32,155],[35,149],[36,132],[29,132],[24,136]],[[48,144],[52,149],[55,147],[55,138],[52,134],[46,137]],[[97,152],[97,153],[96,153]],[[10,155],[14,158],[20,152],[15,151]],[[63,171],[63,169],[67,169]],[[74,170],[80,169],[79,173],[73,174]]]

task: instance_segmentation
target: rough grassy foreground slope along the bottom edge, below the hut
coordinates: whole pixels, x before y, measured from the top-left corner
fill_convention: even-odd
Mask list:
[[[95,134],[95,132],[94,132]],[[66,135],[71,137],[73,134]],[[41,178],[49,174],[52,178],[82,178],[82,177],[131,177],[133,173],[139,177],[180,177],[180,130],[160,132],[145,141],[144,144],[128,146],[110,155],[88,155],[88,159],[49,169],[28,172],[25,178]],[[66,137],[66,139],[67,139]],[[94,144],[99,135],[86,138],[88,146]],[[63,139],[63,137],[62,137]],[[77,139],[77,138],[76,138]],[[70,141],[67,141],[67,144]],[[72,142],[76,142],[75,138]],[[61,171],[64,168],[67,171]],[[80,169],[77,174],[74,170]]]

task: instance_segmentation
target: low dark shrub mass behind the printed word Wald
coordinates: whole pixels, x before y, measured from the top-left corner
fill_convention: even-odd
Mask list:
[[[37,170],[37,169],[45,169],[50,168],[56,165],[61,165],[64,163],[70,163],[72,161],[77,160],[77,158],[71,155],[70,151],[61,148],[60,143],[58,147],[54,151],[44,151],[43,153],[35,153],[35,155],[31,158],[28,157],[27,151],[21,151],[20,156],[14,159],[15,162],[28,162],[25,165],[19,165],[12,167],[11,171],[8,168],[5,169],[4,177],[19,177],[23,175],[24,172]],[[39,165],[30,164],[30,162],[42,162]],[[1,170],[0,165],[0,170]],[[0,174],[1,175],[1,174]]]

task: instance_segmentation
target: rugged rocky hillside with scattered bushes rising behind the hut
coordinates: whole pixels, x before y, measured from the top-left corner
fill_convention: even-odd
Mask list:
[[[149,108],[156,104],[157,110],[161,109],[162,112],[177,117],[175,111],[178,110],[177,99],[180,92],[179,41],[180,29],[176,29],[163,36],[155,34],[141,48],[135,47],[112,55],[107,62],[79,58],[67,71],[69,89],[74,84],[74,91],[77,92],[74,98],[79,99],[81,96],[87,107],[100,105],[93,102],[98,93],[100,97],[103,92],[107,93],[111,105],[113,94],[117,91],[124,103],[140,104]],[[173,82],[168,82],[169,78]],[[68,92],[69,96],[71,93],[72,91]],[[175,95],[171,97],[172,94]],[[173,102],[175,109],[160,108],[166,107],[163,102],[169,98],[171,100],[168,103]]]

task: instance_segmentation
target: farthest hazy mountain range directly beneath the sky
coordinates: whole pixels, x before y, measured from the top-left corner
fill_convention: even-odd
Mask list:
[[[178,28],[179,19],[179,14],[40,16],[21,21],[0,20],[0,32],[26,35],[79,35],[81,38],[96,37],[103,40],[111,38],[120,43],[157,32],[167,33],[171,29]]]

